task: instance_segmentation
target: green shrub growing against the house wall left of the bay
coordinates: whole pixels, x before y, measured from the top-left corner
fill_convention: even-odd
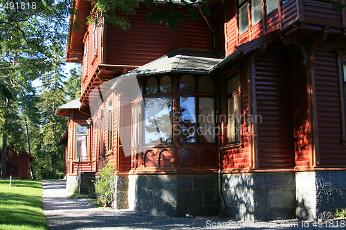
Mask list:
[[[114,201],[115,170],[116,166],[106,164],[106,166],[104,166],[100,171],[100,179],[95,182],[95,190],[98,197],[98,202],[101,203],[103,207],[111,205]]]

